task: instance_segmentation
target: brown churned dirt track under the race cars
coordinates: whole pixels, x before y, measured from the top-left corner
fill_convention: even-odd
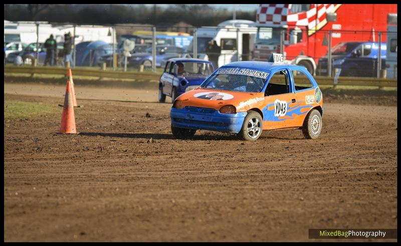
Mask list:
[[[326,100],[318,139],[245,142],[173,139],[170,103],[133,101],[78,100],[79,135],[56,134],[61,108],[5,121],[5,241],[309,241],[308,228],[397,227],[396,106]]]

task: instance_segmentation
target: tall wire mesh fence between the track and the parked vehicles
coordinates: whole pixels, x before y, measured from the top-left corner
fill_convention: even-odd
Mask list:
[[[281,30],[279,34],[262,35],[256,27],[229,24],[222,27],[185,27],[187,34],[173,34],[178,31],[177,27],[174,30],[172,27],[129,24],[102,27],[49,23],[31,25],[29,33],[36,33],[37,40],[26,44],[24,49],[19,47],[15,51],[5,51],[5,64],[21,65],[21,61],[16,62],[20,56],[24,65],[44,66],[47,51],[43,47],[44,38],[39,40],[39,37],[50,35],[51,27],[57,33],[55,36],[59,44],[55,66],[156,72],[156,68],[163,69],[170,58],[191,57],[210,60],[216,69],[235,61],[267,61],[271,53],[282,53],[286,63],[304,66],[315,76],[396,78],[397,42],[393,32],[334,29],[308,34],[310,30],[288,29]],[[82,34],[85,28],[88,29],[87,35]],[[99,28],[103,35],[90,34],[91,28]],[[69,63],[66,62],[63,47],[66,32],[75,37]],[[5,41],[6,35],[5,23]],[[188,37],[186,43],[179,42],[179,37]],[[387,37],[390,37],[388,42]],[[135,43],[128,56],[124,52],[124,39]],[[392,57],[391,61],[389,57]]]

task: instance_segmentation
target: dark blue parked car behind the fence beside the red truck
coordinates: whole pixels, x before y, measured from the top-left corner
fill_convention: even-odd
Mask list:
[[[381,43],[381,69],[385,69],[386,44]],[[376,77],[378,43],[343,42],[332,48],[332,75],[339,69],[339,76]],[[327,56],[319,59],[316,75],[327,76]]]

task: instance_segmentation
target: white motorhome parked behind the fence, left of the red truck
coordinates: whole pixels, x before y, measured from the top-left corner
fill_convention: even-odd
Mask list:
[[[198,58],[209,60],[206,49],[210,41],[216,41],[221,48],[219,67],[236,61],[251,60],[251,51],[258,29],[256,23],[247,20],[229,20],[217,27],[201,27],[196,31]],[[187,54],[193,53],[193,40]],[[215,68],[216,69],[216,68]]]

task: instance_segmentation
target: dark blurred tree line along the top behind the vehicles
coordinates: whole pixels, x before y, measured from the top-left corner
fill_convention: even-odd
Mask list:
[[[236,19],[255,21],[256,11],[237,10]],[[194,27],[217,26],[232,20],[233,12],[215,9],[209,5],[5,5],[4,19],[8,21],[47,21],[49,23],[72,23],[79,25],[150,24],[171,26],[186,22]]]

